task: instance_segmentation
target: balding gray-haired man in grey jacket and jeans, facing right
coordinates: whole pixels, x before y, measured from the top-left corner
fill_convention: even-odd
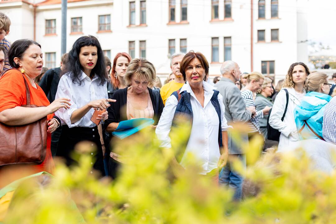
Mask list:
[[[246,108],[244,99],[241,97],[240,90],[236,87],[235,82],[240,80],[241,72],[239,66],[234,61],[225,61],[220,73],[222,78],[215,84],[217,90],[223,96],[223,103],[225,105],[225,118],[227,122],[247,122],[251,119],[252,114],[255,114],[255,107]],[[241,137],[244,141],[248,141],[247,133],[242,133]],[[246,158],[242,149],[237,146],[228,133],[228,148],[229,159],[226,166],[219,174],[219,183],[228,185],[235,189],[234,199],[240,200],[242,197],[243,177],[232,170],[230,158],[238,157],[246,167]]]

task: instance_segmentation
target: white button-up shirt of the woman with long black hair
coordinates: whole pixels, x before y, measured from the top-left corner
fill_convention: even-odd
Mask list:
[[[95,75],[91,80],[84,72],[80,77],[82,80],[82,85],[75,84],[72,82],[68,74],[63,75],[58,83],[57,92],[55,99],[58,98],[69,98],[71,101],[70,109],[60,108],[55,112],[55,115],[59,117],[62,125],[68,125],[69,128],[73,127],[86,127],[92,128],[95,127],[91,121],[94,109],[91,108],[84,117],[71,124],[70,118],[72,113],[85,106],[89,102],[97,99],[108,98],[107,86],[106,83],[102,86],[98,85],[98,77]]]

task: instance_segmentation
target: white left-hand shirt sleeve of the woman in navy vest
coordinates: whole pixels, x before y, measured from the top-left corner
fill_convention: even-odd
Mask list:
[[[169,133],[173,122],[176,106],[176,97],[174,95],[169,96],[166,100],[165,107],[163,108],[159,123],[155,129],[156,136],[161,142],[160,147],[171,148]]]

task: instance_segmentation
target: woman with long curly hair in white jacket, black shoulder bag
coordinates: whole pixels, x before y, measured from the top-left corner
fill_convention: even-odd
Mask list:
[[[297,134],[294,120],[294,108],[300,104],[303,96],[306,94],[304,85],[309,74],[309,69],[304,63],[296,62],[291,64],[283,88],[280,90],[274,101],[268,122],[272,128],[279,130],[281,133],[278,151],[285,150],[291,142],[300,139]],[[287,111],[282,121],[287,102],[285,89],[288,91],[289,97]]]

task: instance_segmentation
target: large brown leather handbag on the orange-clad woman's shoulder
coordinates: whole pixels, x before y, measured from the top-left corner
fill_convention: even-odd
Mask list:
[[[9,71],[9,70],[7,70]],[[26,86],[27,104],[23,107],[39,107],[30,104],[30,91]],[[0,166],[10,164],[41,164],[47,149],[47,117],[27,125],[0,123]]]

